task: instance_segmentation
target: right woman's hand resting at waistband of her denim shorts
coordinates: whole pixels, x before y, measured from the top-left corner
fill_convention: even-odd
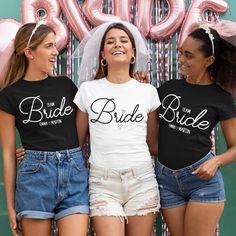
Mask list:
[[[218,160],[217,156],[214,156],[210,160],[202,163],[195,171],[192,172],[193,175],[198,175],[201,179],[211,179],[216,171],[218,170]]]

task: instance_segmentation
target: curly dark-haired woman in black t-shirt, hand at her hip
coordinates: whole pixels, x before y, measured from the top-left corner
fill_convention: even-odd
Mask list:
[[[171,235],[212,236],[224,209],[219,168],[236,160],[236,47],[207,27],[180,47],[180,72],[159,89],[156,175],[162,214]],[[224,90],[226,89],[226,90]],[[211,152],[211,132],[220,122],[228,150]]]

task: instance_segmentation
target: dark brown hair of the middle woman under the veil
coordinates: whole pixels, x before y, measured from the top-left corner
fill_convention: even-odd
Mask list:
[[[113,23],[111,24],[105,31],[102,40],[101,40],[101,46],[100,46],[100,50],[99,50],[99,67],[98,67],[98,71],[97,74],[95,76],[95,79],[101,79],[104,76],[107,76],[107,65],[103,66],[101,65],[101,60],[102,60],[102,55],[101,52],[104,50],[104,43],[105,43],[105,38],[107,33],[111,30],[111,29],[120,29],[123,30],[129,37],[132,47],[134,48],[134,56],[136,55],[136,46],[135,46],[135,41],[134,41],[134,37],[132,35],[132,33],[122,24],[122,23]],[[133,70],[134,70],[134,64],[130,64],[129,67],[129,75],[130,77],[133,77]]]

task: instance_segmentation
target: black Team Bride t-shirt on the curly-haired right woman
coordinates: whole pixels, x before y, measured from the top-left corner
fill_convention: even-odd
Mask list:
[[[158,159],[174,170],[203,158],[211,150],[216,124],[236,116],[232,96],[216,84],[194,85],[175,79],[158,92],[162,103]]]

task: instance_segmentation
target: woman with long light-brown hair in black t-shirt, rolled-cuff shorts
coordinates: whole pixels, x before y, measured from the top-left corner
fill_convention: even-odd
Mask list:
[[[12,234],[87,235],[88,170],[76,131],[76,86],[49,76],[58,55],[55,32],[43,22],[23,25],[0,92],[0,139]],[[15,127],[24,159],[16,167]],[[17,168],[17,175],[16,175]]]

